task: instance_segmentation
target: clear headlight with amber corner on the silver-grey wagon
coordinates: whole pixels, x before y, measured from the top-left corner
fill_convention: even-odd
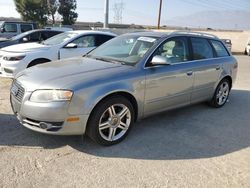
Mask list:
[[[73,92],[69,90],[36,90],[31,94],[32,102],[56,102],[69,101],[73,96]]]

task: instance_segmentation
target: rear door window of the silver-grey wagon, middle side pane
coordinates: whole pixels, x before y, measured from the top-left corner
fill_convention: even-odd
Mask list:
[[[213,49],[209,42],[203,38],[191,38],[193,60],[213,58]]]

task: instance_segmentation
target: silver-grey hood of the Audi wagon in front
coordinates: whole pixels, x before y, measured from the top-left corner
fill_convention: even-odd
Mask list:
[[[36,89],[74,89],[79,83],[105,81],[113,74],[132,69],[132,66],[114,64],[90,58],[70,58],[38,65],[16,75],[27,91]],[[116,77],[117,78],[117,77]]]

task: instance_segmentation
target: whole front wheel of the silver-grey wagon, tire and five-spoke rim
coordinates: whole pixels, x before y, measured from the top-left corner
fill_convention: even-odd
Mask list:
[[[107,98],[91,113],[87,135],[100,145],[117,144],[128,135],[134,119],[134,108],[128,99],[123,96]]]

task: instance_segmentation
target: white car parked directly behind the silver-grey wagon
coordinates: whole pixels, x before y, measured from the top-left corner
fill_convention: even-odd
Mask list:
[[[53,60],[83,56],[115,37],[101,31],[69,31],[42,43],[25,43],[0,50],[0,76],[13,78],[18,72]]]

